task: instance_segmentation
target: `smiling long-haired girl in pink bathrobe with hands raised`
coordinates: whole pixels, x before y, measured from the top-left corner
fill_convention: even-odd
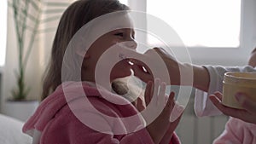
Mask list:
[[[90,48],[86,49],[86,53],[83,48],[73,48],[73,43],[70,43],[82,26],[90,24],[92,20],[104,14],[124,10],[128,8],[117,0],[79,0],[62,15],[52,47],[49,69],[44,79],[43,101],[23,127],[25,133],[32,135],[33,144],[179,143],[177,135],[173,133],[179,118],[172,123],[169,120],[174,106],[173,93],[166,101],[165,107],[162,107],[163,111],[152,121],[148,122],[147,115],[142,117],[139,113],[148,108],[145,109],[143,102],[146,106],[153,105],[156,110],[163,105],[165,83],[161,83],[159,79],[153,83],[151,78],[145,89],[145,101],[137,98],[135,105],[106,89],[109,83],[106,83],[109,84],[106,87],[96,84],[97,61],[104,52],[122,42],[129,42],[127,48],[136,49],[137,43],[134,41],[132,28],[105,32],[89,44]],[[129,19],[124,15],[118,22],[113,20],[110,26],[116,23],[122,25],[127,21],[129,22]],[[97,24],[102,23],[97,21]],[[88,30],[100,28],[92,26]],[[90,33],[85,35],[86,37],[79,37],[79,40],[90,41],[93,35],[94,33]],[[79,45],[79,41],[75,44]],[[70,51],[67,51],[67,48]],[[77,59],[82,59],[82,66],[79,67],[81,72],[73,71],[73,67],[79,66]],[[135,73],[151,77],[150,73],[137,68],[139,66],[136,63],[130,65],[129,62],[127,59],[120,60],[113,66],[110,82],[130,76],[131,69]],[[67,75],[61,73],[63,69],[69,71]],[[80,79],[73,77],[73,73],[79,73]],[[155,92],[159,87],[159,93]]]

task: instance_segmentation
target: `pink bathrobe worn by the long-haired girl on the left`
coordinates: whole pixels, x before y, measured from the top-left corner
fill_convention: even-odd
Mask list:
[[[88,103],[84,104],[81,89],[95,110],[102,114],[91,110]],[[41,102],[24,125],[23,132],[32,135],[33,144],[153,144],[148,131],[143,128],[142,118],[136,115],[136,108],[125,102],[119,95],[96,90],[90,84],[64,83]],[[120,119],[134,115],[137,117],[133,118],[132,124]],[[127,133],[122,133],[124,131]],[[173,134],[170,144],[177,143],[180,143],[177,135]]]

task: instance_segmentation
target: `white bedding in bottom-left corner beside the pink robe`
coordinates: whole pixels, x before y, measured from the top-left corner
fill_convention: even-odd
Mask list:
[[[32,137],[22,133],[23,122],[0,114],[1,144],[31,144]]]

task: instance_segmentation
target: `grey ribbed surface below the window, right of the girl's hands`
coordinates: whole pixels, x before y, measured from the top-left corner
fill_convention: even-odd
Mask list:
[[[176,133],[183,144],[211,144],[224,130],[229,117],[224,115],[196,117],[194,112],[195,91],[190,96]]]

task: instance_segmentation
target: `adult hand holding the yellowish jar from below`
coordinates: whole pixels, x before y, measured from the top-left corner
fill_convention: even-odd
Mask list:
[[[251,101],[247,94],[236,94],[236,100],[241,104],[241,107],[245,108],[243,110],[224,106],[221,103],[223,95],[220,92],[215,92],[214,95],[209,96],[212,103],[225,115],[240,118],[245,122],[256,124],[256,102]]]

